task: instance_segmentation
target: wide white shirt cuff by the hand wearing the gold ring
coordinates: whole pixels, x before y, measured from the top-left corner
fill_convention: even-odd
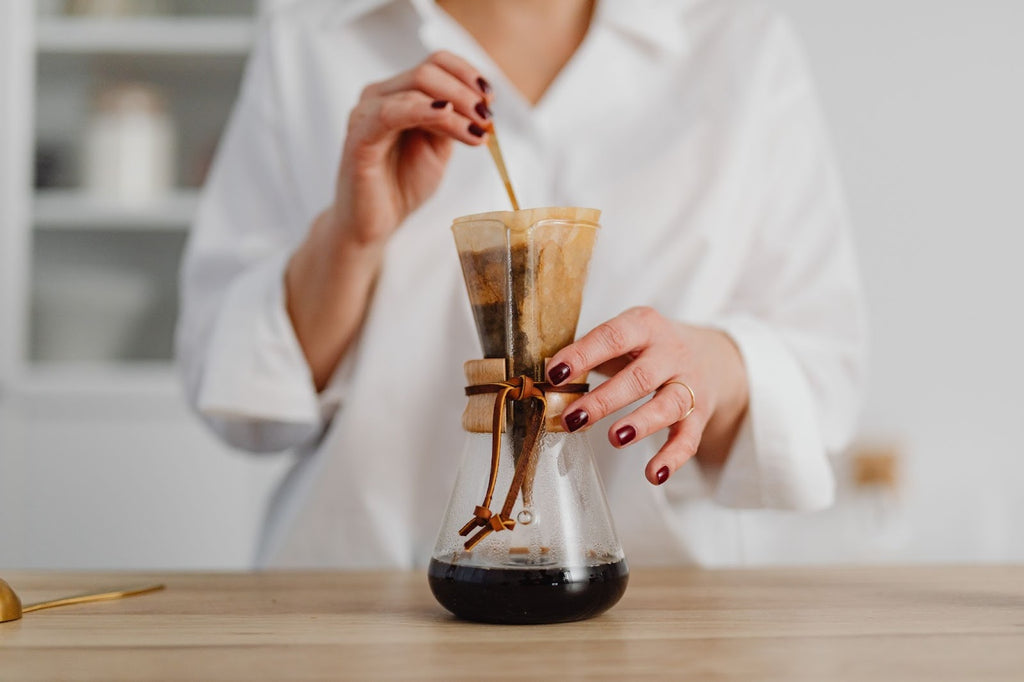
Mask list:
[[[717,502],[735,508],[812,511],[833,504],[836,479],[807,378],[778,334],[749,316],[714,325],[739,348],[750,404],[720,472]]]

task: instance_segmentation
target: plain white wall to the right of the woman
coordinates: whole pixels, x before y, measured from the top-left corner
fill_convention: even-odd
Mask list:
[[[748,558],[784,561],[772,547],[803,534],[827,548],[812,560],[1024,560],[1024,3],[773,4],[804,39],[856,222],[863,439],[901,444],[904,488],[886,539],[837,510],[779,519]]]

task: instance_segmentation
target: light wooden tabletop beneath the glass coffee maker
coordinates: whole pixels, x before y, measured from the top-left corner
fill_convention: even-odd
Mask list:
[[[0,680],[1024,680],[1024,566],[635,569],[605,615],[460,623],[424,573],[9,572]]]

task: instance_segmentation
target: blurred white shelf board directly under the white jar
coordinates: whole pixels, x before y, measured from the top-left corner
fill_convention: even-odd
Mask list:
[[[74,189],[47,189],[36,193],[33,222],[37,229],[184,231],[198,205],[196,189],[178,189],[139,206],[111,204]]]

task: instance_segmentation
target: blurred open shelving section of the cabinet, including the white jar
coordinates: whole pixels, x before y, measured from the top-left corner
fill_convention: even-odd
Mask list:
[[[177,263],[255,20],[251,2],[134,4],[200,13],[28,17],[30,370],[171,356]]]

